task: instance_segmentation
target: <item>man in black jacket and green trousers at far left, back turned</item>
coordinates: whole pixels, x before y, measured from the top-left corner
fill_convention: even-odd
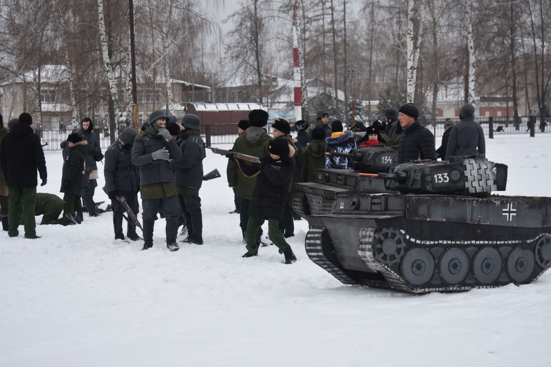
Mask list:
[[[33,132],[33,118],[23,112],[19,122],[9,130],[0,144],[0,162],[8,186],[8,235],[19,235],[19,206],[25,207],[25,238],[36,235],[34,210],[36,205],[36,170],[40,173],[41,186],[47,182],[46,159],[40,138]]]

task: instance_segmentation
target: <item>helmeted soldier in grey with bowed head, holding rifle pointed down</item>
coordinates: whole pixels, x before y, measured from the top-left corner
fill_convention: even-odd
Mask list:
[[[123,214],[126,212],[116,196],[125,198],[134,214],[139,212],[138,204],[138,168],[132,164],[132,146],[138,133],[133,128],[125,128],[118,140],[105,151],[105,186],[113,208],[113,227],[115,239],[125,239],[122,233]],[[142,239],[136,233],[136,224],[128,218],[126,237],[133,241]]]

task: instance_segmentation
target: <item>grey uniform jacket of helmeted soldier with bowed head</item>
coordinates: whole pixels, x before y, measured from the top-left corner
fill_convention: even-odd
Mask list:
[[[139,189],[138,167],[132,163],[132,147],[123,146],[119,140],[105,151],[105,186],[107,191],[131,191]]]

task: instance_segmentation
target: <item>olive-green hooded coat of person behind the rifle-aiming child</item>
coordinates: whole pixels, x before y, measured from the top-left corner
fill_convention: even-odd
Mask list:
[[[266,154],[270,141],[272,140],[272,136],[269,136],[266,130],[251,126],[245,130],[245,133],[239,135],[231,150],[260,158]],[[244,165],[248,164],[248,162],[244,163]],[[228,184],[230,187],[237,188],[237,197],[251,200],[252,191],[256,184],[256,177],[245,177],[231,161],[228,162],[226,174],[228,175]]]

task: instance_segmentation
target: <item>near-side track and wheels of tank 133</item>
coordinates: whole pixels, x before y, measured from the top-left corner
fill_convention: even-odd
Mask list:
[[[473,288],[495,288],[509,283],[517,285],[532,283],[551,265],[549,259],[551,256],[549,254],[551,234],[549,233],[542,233],[536,238],[527,240],[430,241],[410,237],[403,229],[391,228],[390,230],[398,233],[396,237],[401,235],[406,239],[404,243],[408,244],[404,244],[402,248],[403,256],[398,256],[398,258],[395,256],[392,259],[392,256],[397,254],[396,250],[393,254],[389,254],[390,256],[386,255],[386,252],[390,253],[394,249],[394,245],[390,244],[391,248],[388,251],[382,251],[381,248],[384,249],[385,246],[384,241],[379,244],[379,249],[377,249],[377,242],[379,241],[376,241],[376,236],[382,231],[377,232],[375,228],[360,228],[358,255],[371,270],[380,272],[392,288],[401,291],[414,293],[466,291]],[[544,255],[542,255],[543,247]],[[408,253],[413,253],[413,251],[415,251],[415,254],[407,259]],[[381,254],[385,255],[381,256]],[[482,256],[477,256],[477,254]],[[381,260],[384,257],[386,257],[386,261]],[[482,258],[485,259],[482,260]],[[425,263],[421,264],[422,260],[425,259]],[[419,260],[421,261],[416,264],[416,261]],[[473,271],[474,264],[476,264],[476,267]],[[491,270],[485,273],[482,268],[487,266],[486,271],[488,271],[490,265]],[[412,271],[409,273],[408,281],[408,276],[404,275],[403,271],[406,269],[404,267],[409,266],[412,267]],[[415,269],[415,266],[418,266],[418,269]],[[453,269],[453,266],[456,266],[456,269],[458,267],[457,272],[455,272],[456,269]],[[479,267],[482,271],[478,270]],[[543,268],[543,270],[530,278],[536,267]],[[527,274],[523,274],[526,270],[528,270]],[[491,278],[494,280],[485,284],[482,280],[491,273],[493,273]],[[457,277],[457,275],[459,276]],[[419,278],[422,276],[428,280]],[[418,283],[420,284],[412,282],[417,278],[419,278]],[[454,280],[457,280],[457,284],[453,284]]]

